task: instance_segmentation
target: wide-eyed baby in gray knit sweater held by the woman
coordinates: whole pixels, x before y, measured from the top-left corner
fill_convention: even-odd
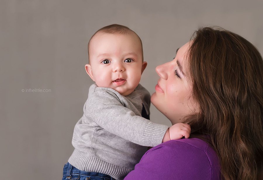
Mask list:
[[[139,84],[147,62],[134,31],[122,25],[103,27],[91,37],[88,53],[86,72],[96,84],[89,88],[84,114],[75,126],[75,150],[65,171],[73,166],[82,175],[123,179],[148,146],[189,137],[189,125],[168,128],[150,122],[150,94]]]

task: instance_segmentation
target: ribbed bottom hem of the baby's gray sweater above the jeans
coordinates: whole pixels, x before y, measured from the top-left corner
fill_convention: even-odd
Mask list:
[[[124,176],[133,170],[132,168],[110,164],[95,156],[90,156],[87,153],[78,151],[77,149],[73,151],[68,162],[79,170],[108,174],[117,180],[124,178]]]

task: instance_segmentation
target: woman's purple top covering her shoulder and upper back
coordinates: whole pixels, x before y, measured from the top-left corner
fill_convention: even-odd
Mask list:
[[[124,180],[221,180],[215,151],[197,138],[172,140],[148,150]]]

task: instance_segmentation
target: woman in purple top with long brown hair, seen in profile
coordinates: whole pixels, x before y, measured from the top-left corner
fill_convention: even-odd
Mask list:
[[[243,37],[199,29],[160,76],[153,105],[189,139],[146,152],[130,179],[263,179],[263,60]]]

